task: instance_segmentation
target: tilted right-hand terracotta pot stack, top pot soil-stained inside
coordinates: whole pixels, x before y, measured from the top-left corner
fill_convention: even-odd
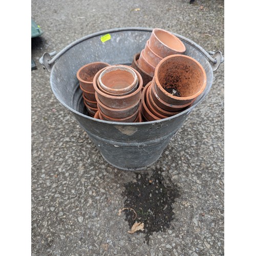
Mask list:
[[[143,120],[159,120],[184,111],[205,87],[206,73],[196,59],[181,54],[163,58],[142,92]]]

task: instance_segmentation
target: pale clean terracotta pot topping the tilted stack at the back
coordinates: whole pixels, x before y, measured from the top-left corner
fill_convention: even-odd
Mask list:
[[[186,51],[186,47],[177,36],[157,28],[153,29],[148,45],[162,58],[173,54],[183,54]]]

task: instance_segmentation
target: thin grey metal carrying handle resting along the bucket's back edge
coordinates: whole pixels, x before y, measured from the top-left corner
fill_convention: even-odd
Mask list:
[[[69,46],[67,46],[66,48],[64,48],[62,51],[60,51],[55,57],[52,58],[53,55],[56,54],[56,52],[52,52],[52,53],[47,53],[45,52],[42,57],[39,59],[39,63],[44,66],[44,69],[46,69],[48,72],[51,72],[52,67],[54,65],[54,62],[65,52],[67,52],[70,48],[72,48],[73,46],[79,44],[81,41],[84,41],[88,38],[94,37],[96,35],[101,35],[101,34],[105,34],[105,33],[110,33],[110,32],[116,32],[116,31],[123,31],[123,30],[138,30],[140,29],[141,31],[152,31],[153,29],[149,29],[149,28],[118,28],[118,29],[113,29],[113,30],[109,30],[109,31],[101,31],[98,33],[94,33],[92,35],[88,35],[85,37],[80,38],[77,41],[74,41],[72,44],[70,44]],[[173,33],[175,36],[177,36],[179,39],[181,39],[182,41],[186,42],[187,44],[193,46],[194,48],[198,49],[205,57],[206,59],[210,62],[212,71],[216,71],[220,64],[224,61],[224,57],[222,56],[221,51],[208,51],[206,52],[201,46],[197,45],[195,42],[193,42],[192,40],[178,35],[176,33]]]

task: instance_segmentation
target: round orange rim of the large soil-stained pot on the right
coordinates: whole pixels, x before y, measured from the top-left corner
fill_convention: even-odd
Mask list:
[[[174,58],[177,58],[177,57],[178,57],[178,58],[186,58],[186,59],[189,59],[189,60],[195,62],[195,63],[197,64],[198,68],[199,68],[199,69],[202,71],[202,73],[203,73],[204,80],[203,80],[201,89],[200,89],[197,93],[195,93],[195,94],[193,94],[193,95],[191,95],[191,96],[187,96],[187,97],[178,97],[178,96],[174,96],[174,95],[168,93],[167,91],[165,91],[165,90],[163,89],[163,87],[161,86],[161,83],[159,82],[159,79],[158,79],[158,70],[159,70],[160,66],[163,65],[163,63],[166,62],[166,61],[168,61],[169,59],[174,59]],[[194,59],[194,58],[192,58],[192,57],[190,57],[190,56],[184,55],[184,54],[173,54],[173,55],[169,55],[169,56],[163,58],[163,59],[158,63],[158,65],[157,65],[157,67],[156,67],[154,78],[155,78],[155,84],[156,84],[157,88],[160,89],[160,91],[161,91],[163,94],[165,94],[165,95],[166,95],[167,97],[169,97],[169,98],[173,98],[173,99],[180,100],[180,101],[182,101],[182,100],[191,100],[191,99],[194,99],[194,98],[198,97],[198,96],[204,91],[204,89],[206,88],[206,82],[207,82],[207,77],[206,77],[206,73],[205,73],[205,70],[204,70],[203,66],[202,66],[196,59]]]

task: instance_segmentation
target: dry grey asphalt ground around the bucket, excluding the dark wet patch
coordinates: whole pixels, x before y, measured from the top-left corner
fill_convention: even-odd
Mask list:
[[[162,28],[224,55],[224,1],[36,1],[44,31],[32,40],[32,255],[224,255],[224,65],[160,159],[143,171],[179,190],[169,227],[130,234],[125,186],[137,175],[105,162],[51,91],[39,58],[71,42],[121,27]]]

